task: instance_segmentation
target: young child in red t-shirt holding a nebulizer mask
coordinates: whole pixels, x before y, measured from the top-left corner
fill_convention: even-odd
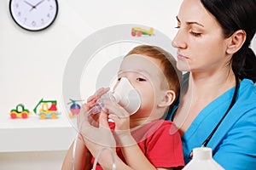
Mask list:
[[[126,164],[117,163],[117,169],[124,169],[122,166],[131,169],[170,169],[183,166],[182,143],[177,128],[172,122],[161,119],[179,93],[181,73],[176,70],[175,62],[171,54],[149,45],[133,48],[123,59],[118,78],[125,77],[131,82],[140,94],[142,104],[130,116],[120,105],[111,100],[104,101],[103,109],[114,122],[114,127],[112,123],[110,127],[113,128],[119,146],[116,149],[117,161],[120,159]],[[95,101],[96,97],[91,97],[90,105]],[[79,148],[86,148],[83,140],[79,144]],[[148,162],[140,161],[143,155],[137,154],[140,153],[137,150],[143,150]],[[87,154],[87,159],[84,154]],[[64,169],[70,166],[69,155],[67,153]],[[78,155],[76,156],[82,162],[76,159],[76,167],[91,169],[94,159],[88,161],[90,154],[84,151]],[[98,164],[96,169],[102,167]]]

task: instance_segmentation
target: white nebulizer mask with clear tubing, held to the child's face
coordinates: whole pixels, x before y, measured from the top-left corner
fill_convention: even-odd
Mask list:
[[[140,108],[141,105],[141,98],[138,94],[137,90],[132,87],[131,83],[128,81],[127,78],[122,77],[120,79],[120,82],[118,86],[115,88],[113,93],[107,93],[103,94],[100,99],[97,100],[96,105],[90,109],[90,111],[86,112],[87,116],[90,116],[90,114],[98,114],[102,111],[103,107],[103,100],[104,99],[112,99],[115,102],[117,102],[119,105],[123,106],[125,111],[127,111],[129,114],[134,114],[137,112],[137,110]],[[80,113],[81,114],[81,113]],[[79,125],[79,132],[76,135],[76,138],[73,143],[73,160],[72,160],[72,168],[75,170],[75,151],[77,147],[77,142],[79,139],[79,133],[81,130],[81,127],[83,125],[84,121],[80,123]],[[116,169],[116,160],[113,155],[113,150],[111,150],[109,147],[103,147],[99,152],[97,153],[93,165],[93,169],[96,167],[97,160],[99,156],[102,154],[103,150],[109,150],[113,159],[113,169]]]

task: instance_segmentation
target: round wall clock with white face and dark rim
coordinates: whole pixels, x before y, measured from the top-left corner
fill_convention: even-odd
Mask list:
[[[58,3],[57,0],[10,0],[9,10],[20,27],[40,31],[55,21]]]

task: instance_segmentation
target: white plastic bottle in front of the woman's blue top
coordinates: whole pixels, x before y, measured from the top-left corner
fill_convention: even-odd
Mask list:
[[[211,148],[195,148],[193,149],[193,158],[183,168],[183,170],[224,170],[217,161],[212,159]]]

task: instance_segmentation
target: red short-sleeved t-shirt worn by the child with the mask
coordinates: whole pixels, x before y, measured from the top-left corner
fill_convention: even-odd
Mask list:
[[[113,122],[110,122],[113,128]],[[183,145],[177,127],[171,121],[156,120],[149,122],[143,127],[131,131],[143,154],[154,167],[180,167],[184,166]],[[121,149],[116,149],[119,158],[125,162]],[[91,160],[91,167],[94,158]],[[98,164],[97,170],[102,169]]]

